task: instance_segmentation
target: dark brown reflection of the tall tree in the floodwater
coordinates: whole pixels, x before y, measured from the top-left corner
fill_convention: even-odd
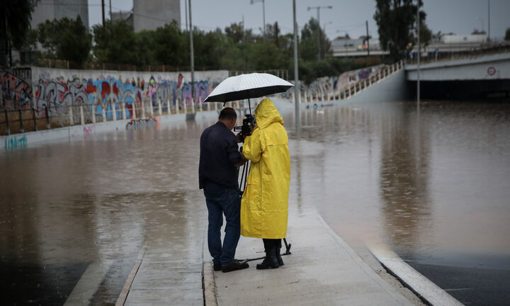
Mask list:
[[[416,113],[387,112],[381,122],[380,198],[382,227],[399,254],[416,255],[430,227],[430,135]]]

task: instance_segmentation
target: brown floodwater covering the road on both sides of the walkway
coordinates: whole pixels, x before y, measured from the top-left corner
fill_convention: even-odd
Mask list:
[[[289,205],[314,204],[354,249],[391,246],[461,302],[508,300],[510,103],[421,104],[311,106],[299,134],[278,106]],[[214,122],[0,153],[0,303],[63,305],[92,273],[92,304],[113,305],[146,242],[200,251],[198,140]]]

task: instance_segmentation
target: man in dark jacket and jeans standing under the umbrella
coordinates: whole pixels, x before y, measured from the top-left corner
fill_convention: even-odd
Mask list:
[[[231,132],[237,120],[234,108],[223,108],[215,125],[200,136],[199,187],[203,188],[208,207],[208,246],[215,271],[229,272],[248,268],[248,263],[234,259],[240,235],[239,186],[237,167],[246,162],[239,152],[237,137]],[[223,214],[227,220],[225,239],[221,242]]]

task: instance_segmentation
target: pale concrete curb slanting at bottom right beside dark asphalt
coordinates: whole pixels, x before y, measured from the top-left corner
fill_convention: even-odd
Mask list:
[[[463,305],[455,297],[446,293],[445,290],[439,288],[435,283],[432,283],[429,278],[414,270],[412,266],[409,266],[394,251],[385,246],[368,246],[368,249],[388,273],[395,276],[403,285],[412,290],[427,304],[432,306]]]

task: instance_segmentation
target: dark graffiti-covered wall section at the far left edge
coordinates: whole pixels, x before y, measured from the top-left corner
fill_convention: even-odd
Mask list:
[[[32,86],[16,75],[0,69],[1,108],[30,108]]]

